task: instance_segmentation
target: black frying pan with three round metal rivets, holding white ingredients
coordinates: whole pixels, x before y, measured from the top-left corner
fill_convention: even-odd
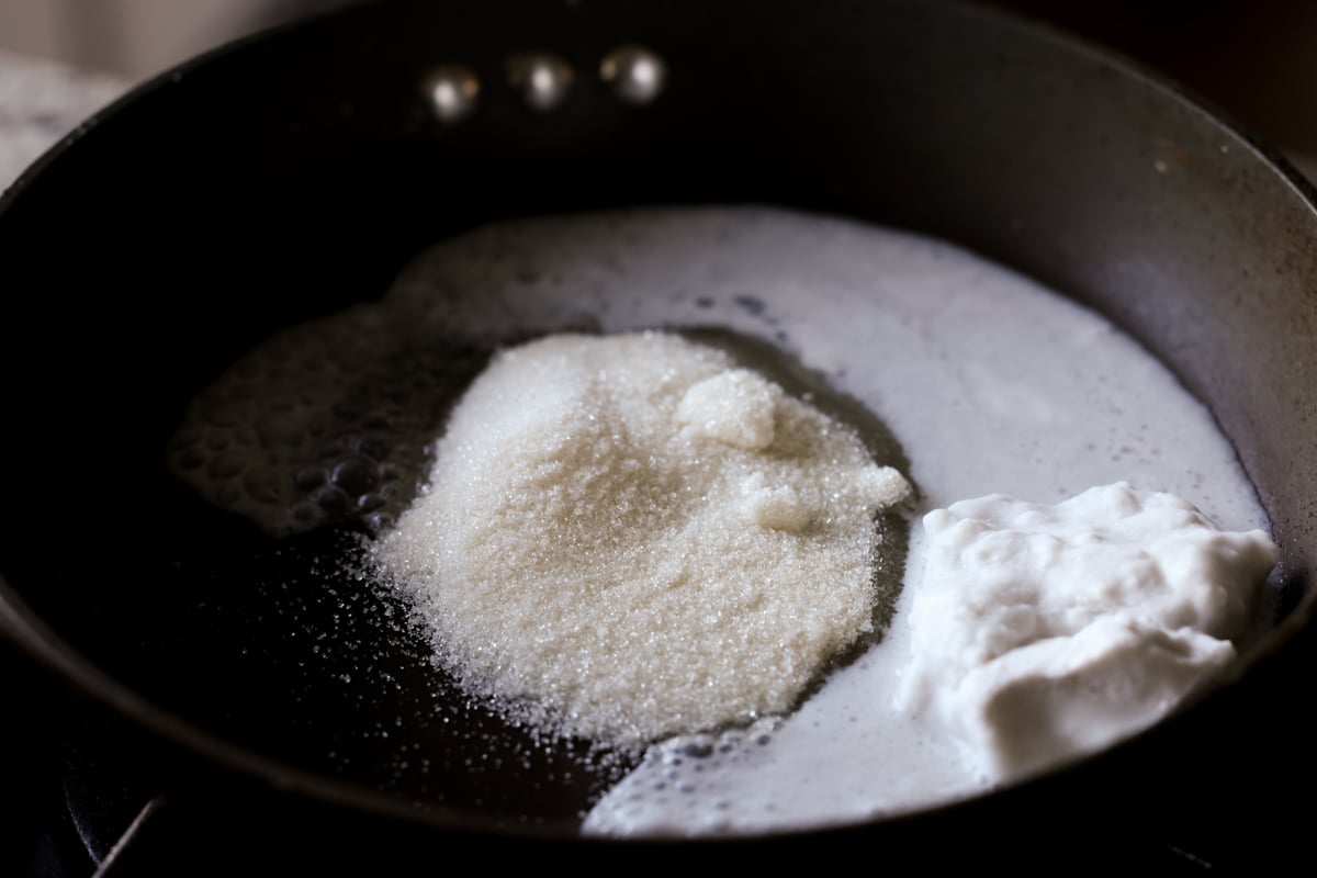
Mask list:
[[[648,104],[597,75],[631,42],[669,68]],[[577,74],[552,112],[508,84],[527,50]],[[448,63],[482,83],[457,124],[423,90]],[[942,236],[1115,320],[1212,407],[1256,483],[1283,550],[1275,633],[1173,721],[1006,794],[772,840],[585,842],[578,812],[601,781],[570,748],[535,749],[462,707],[421,646],[378,624],[385,599],[312,574],[344,550],[337,529],[277,544],[165,466],[186,401],[242,351],[379,296],[440,238],[512,216],[714,201]],[[241,795],[262,815],[246,832],[337,846],[385,832],[408,854],[470,842],[745,857],[971,833],[980,846],[959,853],[977,858],[1021,856],[1018,825],[1050,827],[1029,849],[1051,852],[1047,839],[1073,845],[1101,813],[1129,828],[1185,807],[1204,760],[1284,717],[1277,699],[1309,661],[1312,190],[1168,84],[997,12],[369,4],[227,47],[99,115],[0,203],[0,620],[79,692],[78,721],[145,742],[163,812],[199,844],[238,820],[209,804]],[[312,658],[320,632],[332,637]]]

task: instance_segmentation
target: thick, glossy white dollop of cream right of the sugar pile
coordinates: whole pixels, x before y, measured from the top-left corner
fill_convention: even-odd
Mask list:
[[[923,516],[898,710],[932,711],[977,770],[1019,777],[1160,720],[1235,656],[1276,563],[1263,530],[1117,482]]]

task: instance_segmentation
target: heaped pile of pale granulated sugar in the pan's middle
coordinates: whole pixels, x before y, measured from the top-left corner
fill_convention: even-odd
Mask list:
[[[569,333],[494,358],[375,555],[468,691],[628,746],[790,710],[871,631],[909,492],[718,349]]]

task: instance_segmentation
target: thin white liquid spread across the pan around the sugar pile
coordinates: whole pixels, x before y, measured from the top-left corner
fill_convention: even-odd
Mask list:
[[[294,407],[288,423],[262,424],[261,394],[281,387],[265,380],[274,366],[320,367],[333,359],[324,354],[331,350],[350,369],[333,373],[325,387],[377,400],[381,387],[425,384],[449,349],[582,326],[712,326],[776,345],[896,433],[921,492],[915,520],[985,494],[1055,503],[1129,480],[1189,500],[1223,529],[1267,524],[1206,409],[1108,321],[955,246],[769,208],[549,217],[444,242],[415,261],[382,303],[277,340],[278,357],[257,351],[249,363],[261,379],[249,382],[255,401],[244,403],[250,412],[236,419],[230,411],[252,396],[238,370],[216,388],[213,404],[198,407],[178,466],[207,496],[271,532],[313,527],[325,513],[300,516],[303,467],[337,461],[323,467],[335,484],[340,469],[361,462],[360,440],[371,434],[327,405],[306,417]],[[431,426],[417,401],[433,394],[428,384],[408,392],[391,401],[398,412],[386,437],[407,455],[386,454],[383,463],[367,455],[373,466],[414,467],[428,441],[419,438]],[[316,417],[331,419],[324,434],[335,445],[302,442],[303,421]],[[274,440],[229,466],[208,449],[223,445],[216,432],[232,432],[234,420]],[[286,434],[300,444],[284,442]],[[356,457],[333,457],[349,453]],[[394,484],[387,477],[378,474],[383,488]],[[335,490],[352,494],[357,479],[341,480]],[[308,484],[315,502],[319,477]],[[922,567],[919,536],[913,528],[907,573]],[[594,808],[585,831],[760,833],[982,792],[988,781],[961,763],[944,733],[901,719],[893,707],[909,649],[902,620],[910,594],[907,587],[901,595],[885,640],[777,728],[769,721],[720,742],[677,740],[656,749]]]

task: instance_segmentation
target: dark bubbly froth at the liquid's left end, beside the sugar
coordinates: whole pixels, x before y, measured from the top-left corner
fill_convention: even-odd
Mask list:
[[[483,359],[382,307],[288,329],[192,400],[170,466],[271,536],[348,519],[378,530],[414,496]]]

